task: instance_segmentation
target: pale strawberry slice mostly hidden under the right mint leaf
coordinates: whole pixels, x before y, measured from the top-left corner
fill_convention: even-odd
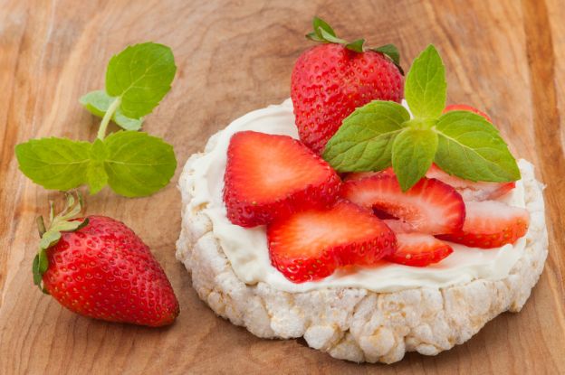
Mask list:
[[[516,187],[516,183],[485,183],[464,180],[441,170],[436,164],[432,164],[426,173],[427,178],[436,178],[455,188],[461,194],[464,201],[487,201],[502,197]]]

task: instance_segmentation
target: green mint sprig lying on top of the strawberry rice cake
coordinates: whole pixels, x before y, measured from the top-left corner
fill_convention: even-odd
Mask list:
[[[432,163],[470,181],[520,179],[516,160],[484,117],[445,108],[445,66],[433,45],[413,62],[405,82],[408,107],[372,101],[343,120],[323,157],[339,172],[380,171],[392,165],[407,191]]]

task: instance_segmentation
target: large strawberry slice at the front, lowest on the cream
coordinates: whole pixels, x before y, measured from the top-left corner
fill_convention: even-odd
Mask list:
[[[330,276],[337,267],[374,266],[397,248],[395,234],[370,211],[350,202],[309,210],[267,227],[273,267],[294,283]]]

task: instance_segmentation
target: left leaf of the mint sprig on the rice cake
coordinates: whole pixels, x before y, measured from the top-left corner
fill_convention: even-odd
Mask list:
[[[379,171],[391,164],[392,144],[410,119],[392,101],[372,101],[343,120],[323,158],[338,172]]]

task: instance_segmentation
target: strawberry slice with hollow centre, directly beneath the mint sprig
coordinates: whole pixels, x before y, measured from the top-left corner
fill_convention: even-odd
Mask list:
[[[412,231],[443,234],[461,230],[464,202],[455,189],[436,179],[422,178],[402,192],[397,177],[381,173],[343,183],[340,195],[362,207],[385,211],[405,221]]]

